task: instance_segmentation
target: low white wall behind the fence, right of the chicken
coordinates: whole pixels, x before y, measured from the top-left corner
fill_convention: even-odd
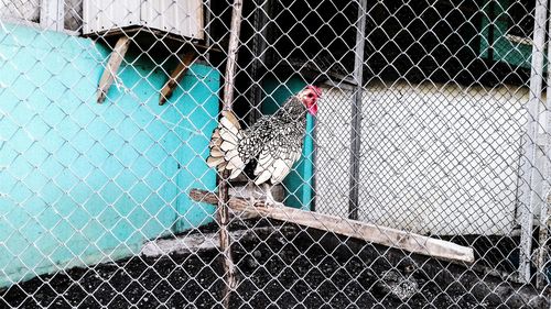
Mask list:
[[[318,115],[316,208],[346,216],[352,91]],[[528,91],[369,85],[363,101],[360,219],[423,234],[508,234]]]

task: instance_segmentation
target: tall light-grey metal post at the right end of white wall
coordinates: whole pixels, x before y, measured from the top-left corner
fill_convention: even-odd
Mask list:
[[[545,43],[547,0],[537,0],[533,24],[532,63],[530,73],[530,99],[528,101],[528,125],[522,157],[522,184],[520,203],[520,262],[519,280],[530,282],[532,250],[533,205],[537,201],[534,173],[537,172],[536,147],[539,109],[543,79],[543,49]]]

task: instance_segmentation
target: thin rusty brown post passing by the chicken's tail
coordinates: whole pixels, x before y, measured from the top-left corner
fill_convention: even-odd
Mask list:
[[[228,44],[228,60],[224,84],[224,110],[231,110],[234,101],[234,85],[237,66],[237,51],[239,48],[239,31],[241,27],[242,0],[234,1],[231,12],[231,25]],[[223,173],[218,187],[218,208],[216,210],[218,224],[220,227],[220,250],[224,256],[224,273],[226,286],[223,294],[224,308],[229,308],[231,290],[237,287],[236,271],[231,258],[231,240],[228,232],[228,170]]]

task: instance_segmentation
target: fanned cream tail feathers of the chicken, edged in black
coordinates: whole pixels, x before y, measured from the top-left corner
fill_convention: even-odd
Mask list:
[[[241,137],[241,125],[237,117],[231,111],[223,111],[218,128],[210,137],[207,165],[216,167],[220,173],[230,170],[230,179],[241,174],[246,165],[238,152]]]

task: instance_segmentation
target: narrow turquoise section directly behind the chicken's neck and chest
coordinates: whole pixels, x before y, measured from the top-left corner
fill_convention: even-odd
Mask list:
[[[289,97],[304,89],[306,81],[301,77],[290,77],[282,81],[279,78],[266,78],[263,88],[268,96],[262,102],[262,113],[270,114],[277,111]],[[307,114],[306,136],[302,150],[302,157],[294,165],[293,170],[283,180],[287,197],[284,203],[295,208],[311,209],[314,198],[313,177],[314,177],[314,118]]]

